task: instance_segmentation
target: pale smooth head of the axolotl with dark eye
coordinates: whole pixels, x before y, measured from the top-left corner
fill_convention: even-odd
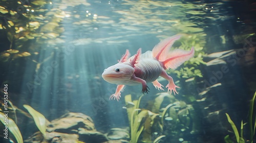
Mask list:
[[[102,78],[112,84],[125,84],[131,80],[134,71],[135,69],[129,62],[119,62],[106,68],[102,73]]]

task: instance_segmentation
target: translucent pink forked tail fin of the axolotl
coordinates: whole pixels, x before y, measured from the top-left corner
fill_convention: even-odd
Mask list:
[[[194,56],[194,47],[192,47],[190,51],[184,51],[181,49],[170,51],[170,47],[172,47],[173,43],[180,39],[180,37],[180,35],[175,35],[166,38],[158,43],[152,50],[153,57],[163,63],[164,69],[176,69],[182,63]]]

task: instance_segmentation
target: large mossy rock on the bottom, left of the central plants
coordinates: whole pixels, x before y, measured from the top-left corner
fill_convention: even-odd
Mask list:
[[[106,143],[109,139],[96,131],[90,116],[82,113],[67,113],[53,120],[47,127],[45,138],[40,132],[34,133],[25,142],[86,142]]]

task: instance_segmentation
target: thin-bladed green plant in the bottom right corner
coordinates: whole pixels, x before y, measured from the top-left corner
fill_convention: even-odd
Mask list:
[[[250,133],[250,143],[253,143],[253,137],[255,135],[255,127],[256,127],[256,114],[254,111],[254,101],[255,101],[255,97],[256,97],[256,92],[254,93],[251,101],[250,101],[250,106],[249,106],[249,133]],[[231,125],[233,132],[234,132],[234,136],[236,136],[236,141],[238,143],[244,143],[245,140],[243,138],[243,126],[245,124],[243,124],[243,121],[241,121],[241,131],[240,131],[240,135],[238,132],[238,129],[236,127],[236,125],[233,123],[233,121],[231,120],[230,116],[228,115],[228,113],[226,113],[227,116],[227,120],[229,122],[229,124]],[[226,135],[224,138],[226,143],[232,143],[232,139],[229,137],[229,135]]]

